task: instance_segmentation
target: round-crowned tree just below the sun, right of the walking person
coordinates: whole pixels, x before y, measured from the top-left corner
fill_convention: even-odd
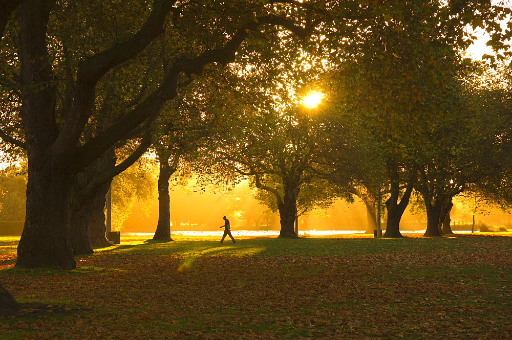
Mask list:
[[[224,171],[250,176],[254,187],[268,193],[259,197],[279,211],[280,237],[296,237],[299,213],[333,198],[329,192],[313,188],[320,180],[314,168],[324,151],[324,130],[321,122],[300,110],[291,109],[286,115],[252,112],[231,127],[229,139],[214,152],[215,162]],[[306,189],[309,186],[311,189]],[[297,207],[298,201],[301,205]]]

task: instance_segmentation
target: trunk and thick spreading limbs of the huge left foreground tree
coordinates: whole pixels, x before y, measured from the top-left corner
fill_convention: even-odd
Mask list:
[[[232,62],[250,32],[258,31],[262,25],[281,25],[301,37],[306,37],[313,29],[309,24],[306,28],[293,24],[286,18],[286,11],[284,17],[280,16],[281,8],[267,8],[247,2],[216,7],[216,10],[222,9],[229,15],[226,20],[215,21],[214,26],[211,26],[209,15],[201,18],[199,14],[208,13],[214,5],[177,6],[176,1],[165,0],[133,7],[123,4],[121,8],[113,4],[105,11],[106,15],[112,13],[110,11],[129,9],[127,13],[134,16],[126,22],[140,19],[144,24],[136,32],[120,32],[116,41],[101,41],[100,36],[93,36],[91,43],[94,43],[94,48],[85,56],[66,58],[67,54],[57,53],[75,72],[71,73],[71,78],[58,79],[53,77],[53,58],[49,49],[60,43],[62,51],[66,48],[75,49],[71,53],[79,50],[77,41],[73,40],[76,33],[62,26],[63,19],[69,22],[67,11],[73,11],[73,6],[78,5],[84,4],[74,3],[69,8],[61,8],[60,3],[30,0],[20,3],[16,11],[23,103],[21,112],[25,132],[25,141],[16,143],[27,147],[29,162],[27,216],[16,263],[20,267],[75,267],[67,220],[68,202],[76,174],[119,140],[127,138],[148,118],[157,115],[163,103],[176,96],[182,74],[199,74],[209,63]],[[170,11],[173,12],[172,24],[167,18]],[[59,15],[54,15],[56,13]],[[300,17],[304,11],[298,10],[294,14],[297,22],[302,24]],[[204,20],[201,22],[204,26],[197,26],[199,18]],[[190,19],[197,19],[194,27],[199,29],[199,34],[197,31],[191,32],[192,27],[181,25],[191,22]],[[290,19],[293,18],[290,16]],[[306,19],[306,22],[309,21]],[[86,20],[87,24],[90,22]],[[191,43],[201,42],[202,46],[190,51],[189,56],[181,54],[179,48],[175,50],[178,52],[169,56],[162,76],[155,79],[158,84],[142,100],[134,106],[127,105],[111,126],[90,141],[82,142],[81,135],[88,126],[99,81],[106,73],[122,72],[126,63],[133,62],[137,55],[161,36],[165,26],[170,27],[167,36],[177,40],[178,46],[184,46],[186,39]],[[215,29],[210,30],[208,26]],[[183,28],[183,34],[178,32],[179,28]],[[185,41],[182,42],[181,37]],[[198,41],[198,37],[202,41]],[[87,50],[87,47],[83,46],[81,50]],[[128,98],[127,102],[137,95]]]

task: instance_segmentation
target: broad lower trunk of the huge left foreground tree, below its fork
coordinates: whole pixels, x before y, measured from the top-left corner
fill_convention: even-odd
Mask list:
[[[31,157],[27,182],[27,214],[16,266],[74,269],[68,217],[74,174],[67,166]],[[46,157],[45,157],[46,158]]]

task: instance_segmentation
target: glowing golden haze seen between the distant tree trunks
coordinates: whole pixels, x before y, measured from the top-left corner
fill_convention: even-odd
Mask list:
[[[279,215],[272,213],[252,198],[253,191],[247,182],[230,192],[194,192],[193,185],[174,187],[170,192],[170,216],[173,231],[201,230],[215,231],[223,225],[222,216],[227,216],[233,230],[279,230]],[[452,213],[454,230],[471,230],[474,198],[459,197]],[[489,226],[508,226],[512,215],[497,207],[482,205],[480,202],[476,223]],[[423,230],[426,228],[426,213],[418,210],[421,205],[412,204],[404,213],[401,230]],[[414,210],[411,212],[411,208]],[[158,221],[158,198],[155,196],[143,202],[134,202],[133,208],[122,222],[122,232],[154,232]],[[458,229],[459,228],[459,229]],[[366,230],[366,207],[357,197],[353,203],[337,200],[327,210],[317,210],[299,220],[300,230]]]

